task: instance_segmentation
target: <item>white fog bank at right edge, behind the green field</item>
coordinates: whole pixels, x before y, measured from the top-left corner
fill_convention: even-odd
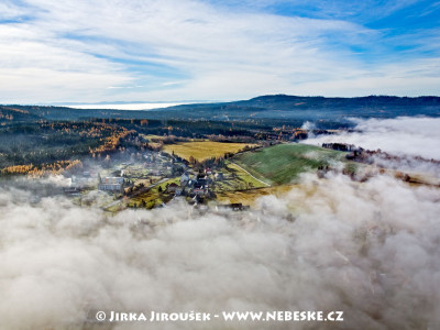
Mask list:
[[[376,165],[406,173],[427,174],[440,178],[440,118],[400,117],[396,119],[352,119],[356,123],[353,132],[318,135],[302,143],[346,143],[370,151],[386,152],[399,158],[374,155]],[[314,129],[310,123],[306,130]],[[422,157],[424,160],[420,160]],[[437,162],[431,162],[431,160]]]

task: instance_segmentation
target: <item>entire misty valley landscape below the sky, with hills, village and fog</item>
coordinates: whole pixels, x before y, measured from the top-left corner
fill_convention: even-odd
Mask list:
[[[1,322],[311,310],[343,311],[332,329],[437,329],[439,127],[436,97],[0,106]]]

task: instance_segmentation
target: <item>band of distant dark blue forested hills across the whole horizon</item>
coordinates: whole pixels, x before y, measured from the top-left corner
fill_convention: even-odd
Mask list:
[[[129,111],[73,109],[66,107],[0,106],[0,122],[78,120],[89,118],[178,119],[219,121],[332,121],[348,117],[395,118],[398,116],[440,116],[440,97],[369,96],[358,98],[261,96],[245,101],[184,105],[170,108]]]

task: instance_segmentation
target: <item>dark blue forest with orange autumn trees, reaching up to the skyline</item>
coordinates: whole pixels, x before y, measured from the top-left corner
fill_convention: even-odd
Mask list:
[[[150,111],[0,106],[0,174],[61,170],[85,155],[106,156],[131,147],[157,150],[176,139],[238,143],[295,141],[307,136],[300,129],[306,121],[318,133],[350,129],[354,123],[349,114],[438,117],[440,98],[276,95]],[[145,139],[147,135],[167,139],[157,144]]]

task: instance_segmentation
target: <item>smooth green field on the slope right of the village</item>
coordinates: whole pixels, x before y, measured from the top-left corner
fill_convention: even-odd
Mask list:
[[[239,154],[232,161],[257,178],[275,185],[290,184],[300,173],[316,170],[331,161],[344,161],[344,153],[318,146],[289,143]]]

